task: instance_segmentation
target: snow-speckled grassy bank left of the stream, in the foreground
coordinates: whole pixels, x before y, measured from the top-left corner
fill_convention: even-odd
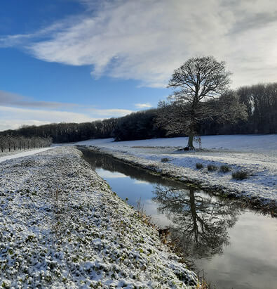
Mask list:
[[[196,288],[156,229],[75,148],[1,162],[4,288]]]

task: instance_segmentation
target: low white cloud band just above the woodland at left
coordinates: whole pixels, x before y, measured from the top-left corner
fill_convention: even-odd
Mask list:
[[[93,105],[34,101],[31,98],[0,91],[0,131],[18,129],[22,124],[40,125],[53,122],[92,122],[121,117],[133,110],[100,109]]]

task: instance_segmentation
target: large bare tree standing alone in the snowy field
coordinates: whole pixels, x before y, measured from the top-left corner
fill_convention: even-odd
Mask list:
[[[187,134],[187,148],[194,148],[197,126],[205,114],[202,104],[227,91],[230,75],[224,61],[217,62],[212,56],[189,58],[173,72],[168,87],[175,90],[168,103],[159,103],[158,124]]]

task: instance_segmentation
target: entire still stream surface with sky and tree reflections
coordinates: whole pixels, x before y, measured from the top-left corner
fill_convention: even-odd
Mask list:
[[[277,219],[106,155],[83,155],[117,195],[134,207],[140,200],[152,222],[170,226],[212,288],[277,288]]]

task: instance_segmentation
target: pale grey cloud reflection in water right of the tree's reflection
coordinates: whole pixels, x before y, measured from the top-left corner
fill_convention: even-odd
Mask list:
[[[276,219],[245,212],[228,230],[231,242],[224,254],[196,265],[216,288],[277,288],[276,230]]]

